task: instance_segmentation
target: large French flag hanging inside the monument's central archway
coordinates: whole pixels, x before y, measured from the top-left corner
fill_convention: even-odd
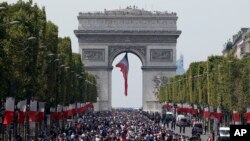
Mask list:
[[[125,81],[125,96],[127,96],[128,95],[128,70],[129,70],[127,53],[122,58],[122,60],[118,64],[116,64],[115,66],[121,68],[121,72],[123,74],[123,78]]]

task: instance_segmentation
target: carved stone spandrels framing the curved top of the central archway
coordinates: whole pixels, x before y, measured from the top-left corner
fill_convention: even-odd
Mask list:
[[[142,66],[146,64],[146,49],[145,47],[110,47],[108,65],[112,66],[114,59],[121,53],[128,52],[136,55],[142,63]]]

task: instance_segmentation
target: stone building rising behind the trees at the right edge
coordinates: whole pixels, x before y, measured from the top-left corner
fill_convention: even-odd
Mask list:
[[[228,41],[222,51],[223,56],[235,56],[239,59],[250,57],[250,28],[241,28],[233,35],[232,41]]]

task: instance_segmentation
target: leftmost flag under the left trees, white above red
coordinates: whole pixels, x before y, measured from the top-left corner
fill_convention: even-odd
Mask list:
[[[5,103],[5,113],[3,124],[11,124],[14,118],[14,105],[15,99],[13,97],[7,97]]]

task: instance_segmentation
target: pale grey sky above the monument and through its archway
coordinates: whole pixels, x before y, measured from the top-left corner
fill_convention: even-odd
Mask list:
[[[7,0],[9,3],[16,1]],[[250,0],[33,0],[33,2],[45,6],[47,19],[59,27],[59,36],[70,36],[73,52],[79,52],[78,41],[73,33],[78,27],[79,12],[112,10],[130,5],[149,11],[176,12],[177,28],[182,31],[177,40],[177,58],[183,54],[185,69],[192,62],[205,61],[211,55],[222,55],[225,42],[242,27],[250,27]],[[113,65],[122,57],[123,54],[119,55]],[[129,54],[129,60],[129,95],[135,96],[124,97],[124,92],[121,91],[122,75],[118,68],[114,68],[112,105],[115,107],[141,106],[138,98],[142,97],[140,69],[142,64],[139,58],[132,54]]]

